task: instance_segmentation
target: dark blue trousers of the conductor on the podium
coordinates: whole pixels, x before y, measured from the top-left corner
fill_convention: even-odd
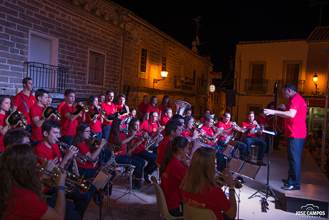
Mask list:
[[[289,162],[288,180],[289,184],[300,188],[301,160],[305,138],[287,137],[287,153]]]

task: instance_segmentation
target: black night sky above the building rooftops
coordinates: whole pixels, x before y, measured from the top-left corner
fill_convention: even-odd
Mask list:
[[[319,26],[320,0],[285,1],[131,1],[116,0],[174,39],[191,48],[195,39],[193,21],[201,16],[198,38],[200,55],[211,56],[214,71],[230,72],[239,41],[306,39]],[[329,25],[329,1],[322,0],[321,26]],[[233,77],[231,71],[228,78]]]

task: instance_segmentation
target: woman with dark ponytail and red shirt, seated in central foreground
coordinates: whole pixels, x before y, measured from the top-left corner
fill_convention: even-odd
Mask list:
[[[183,216],[183,199],[179,186],[187,173],[187,168],[180,161],[186,158],[188,143],[185,137],[179,136],[168,142],[165,157],[160,166],[160,187],[165,195],[169,213],[173,216]]]

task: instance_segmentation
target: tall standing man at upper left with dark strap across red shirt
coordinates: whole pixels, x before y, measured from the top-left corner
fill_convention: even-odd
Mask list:
[[[19,92],[13,98],[13,111],[17,110],[21,112],[27,119],[27,124],[31,124],[31,119],[29,116],[30,108],[35,104],[36,100],[31,91],[33,90],[32,79],[26,77],[22,81],[23,90]]]

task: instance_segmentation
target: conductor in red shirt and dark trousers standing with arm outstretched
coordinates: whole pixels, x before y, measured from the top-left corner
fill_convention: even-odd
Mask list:
[[[289,162],[288,178],[282,179],[286,186],[283,190],[300,190],[301,159],[303,146],[307,135],[306,114],[307,104],[304,98],[297,93],[293,84],[286,84],[281,89],[283,97],[288,99],[285,111],[264,109],[266,115],[276,115],[284,118],[284,132],[287,138],[287,153]]]

